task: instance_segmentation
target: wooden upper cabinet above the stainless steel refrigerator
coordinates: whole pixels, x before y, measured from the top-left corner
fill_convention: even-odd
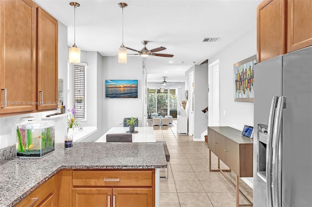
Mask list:
[[[257,62],[312,45],[312,0],[264,0],[257,7]]]

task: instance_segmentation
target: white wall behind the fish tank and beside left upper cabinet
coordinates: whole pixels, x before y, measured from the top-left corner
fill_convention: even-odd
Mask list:
[[[64,101],[67,100],[67,59],[68,59],[68,49],[67,49],[67,27],[59,22],[59,78],[64,80]],[[66,103],[64,103],[66,104]],[[59,110],[58,110],[59,111]],[[20,117],[32,116],[35,117],[36,121],[41,120],[42,116],[45,114],[53,114],[58,111],[48,111],[48,112],[38,112],[29,113],[8,117],[0,118],[0,148],[8,147],[16,143],[16,130],[15,124],[20,120]],[[66,117],[54,119],[58,121],[56,123],[56,141],[63,140],[64,135],[67,134],[67,121]],[[58,128],[64,125],[62,128]]]

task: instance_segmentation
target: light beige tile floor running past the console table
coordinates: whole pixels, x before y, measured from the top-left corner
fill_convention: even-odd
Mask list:
[[[178,135],[172,126],[154,126],[156,140],[165,140],[170,153],[169,179],[160,180],[160,207],[235,207],[235,188],[219,172],[209,172],[209,150],[204,141]],[[217,158],[212,154],[212,167]],[[221,162],[221,168],[227,166]],[[166,169],[161,170],[165,173]],[[235,173],[226,172],[235,181]],[[242,180],[240,190],[253,201],[253,190]],[[248,204],[240,196],[240,204]]]

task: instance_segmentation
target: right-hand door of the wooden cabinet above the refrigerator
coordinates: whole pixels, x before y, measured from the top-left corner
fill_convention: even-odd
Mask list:
[[[292,52],[312,45],[312,0],[287,3],[287,52]]]

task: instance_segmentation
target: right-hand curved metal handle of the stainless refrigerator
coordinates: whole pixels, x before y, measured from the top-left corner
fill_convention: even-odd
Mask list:
[[[272,177],[273,177],[273,206],[280,207],[281,199],[281,156],[279,151],[280,133],[282,129],[283,108],[286,106],[286,97],[278,97],[276,116],[273,130],[273,160],[272,160]]]

